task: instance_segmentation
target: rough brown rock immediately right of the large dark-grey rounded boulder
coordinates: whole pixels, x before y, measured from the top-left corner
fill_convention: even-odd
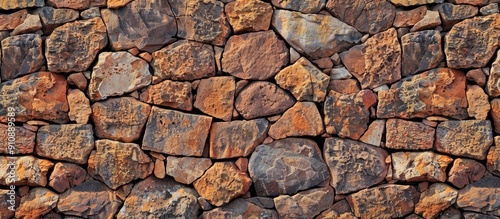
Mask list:
[[[337,194],[349,194],[382,182],[387,175],[387,152],[348,139],[327,138],[324,157],[330,169],[330,185]]]

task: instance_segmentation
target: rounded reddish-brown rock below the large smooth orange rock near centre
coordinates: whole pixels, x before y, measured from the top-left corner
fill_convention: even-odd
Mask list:
[[[234,104],[243,118],[254,119],[285,112],[295,99],[271,82],[257,81],[243,88]]]

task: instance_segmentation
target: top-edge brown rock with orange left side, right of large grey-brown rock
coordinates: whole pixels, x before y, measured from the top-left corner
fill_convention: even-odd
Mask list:
[[[168,0],[177,20],[177,37],[223,46],[231,34],[224,3],[217,0]]]

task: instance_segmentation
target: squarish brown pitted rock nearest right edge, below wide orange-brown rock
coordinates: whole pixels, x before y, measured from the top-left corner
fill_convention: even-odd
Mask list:
[[[486,159],[493,144],[489,120],[445,121],[436,130],[436,150],[477,160]]]

